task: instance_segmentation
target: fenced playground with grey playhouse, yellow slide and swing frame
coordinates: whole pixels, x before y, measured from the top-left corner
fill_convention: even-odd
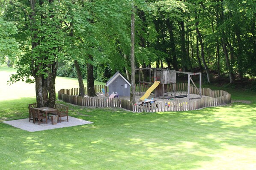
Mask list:
[[[188,111],[231,103],[228,92],[202,88],[201,73],[153,68],[137,70],[139,84],[135,88],[135,104],[130,102],[131,84],[120,72],[116,72],[98,91],[97,97],[78,96],[78,89],[61,89],[59,99],[79,106],[122,107],[133,112]],[[147,77],[152,81],[141,79],[142,70],[149,71]],[[188,83],[177,82],[177,74],[187,75]],[[199,87],[193,81],[194,76],[198,77]]]

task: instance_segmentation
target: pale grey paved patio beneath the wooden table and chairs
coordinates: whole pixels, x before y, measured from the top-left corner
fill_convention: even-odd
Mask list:
[[[20,128],[22,130],[27,130],[29,132],[36,132],[42,130],[57,129],[62,127],[72,127],[83,124],[92,124],[93,122],[68,116],[68,121],[62,121],[61,123],[57,123],[55,125],[51,124],[51,119],[48,119],[48,124],[45,124],[45,121],[43,121],[40,122],[40,125],[38,125],[38,122],[36,122],[36,124],[33,124],[33,120],[29,122],[29,118],[18,119],[13,121],[3,121],[3,123],[9,124],[13,127]]]

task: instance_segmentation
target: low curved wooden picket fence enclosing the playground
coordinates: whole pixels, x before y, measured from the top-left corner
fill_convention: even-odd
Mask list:
[[[102,86],[102,88],[105,88]],[[99,90],[102,89],[98,87]],[[146,87],[145,87],[146,88]],[[185,91],[188,89],[188,84],[176,84],[176,90]],[[199,94],[194,86],[190,86],[191,94]],[[197,100],[164,100],[156,101],[155,104],[138,105],[131,104],[130,101],[124,98],[94,98],[78,96],[79,89],[61,89],[59,91],[59,99],[78,106],[86,107],[122,107],[133,112],[176,112],[195,110],[204,107],[221,106],[231,103],[231,95],[223,90],[211,90],[202,88],[202,97]]]

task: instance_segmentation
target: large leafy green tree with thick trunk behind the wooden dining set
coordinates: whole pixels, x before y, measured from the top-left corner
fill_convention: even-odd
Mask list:
[[[36,83],[36,102],[38,107],[54,107],[56,100],[55,78],[57,61],[62,57],[63,32],[59,2],[54,0],[8,1],[6,13],[10,18],[19,17],[20,29],[26,40],[21,41],[24,52],[17,61],[17,73],[10,82],[19,80]],[[17,15],[17,11],[24,15]],[[24,17],[24,18],[21,18]],[[22,34],[22,33],[21,33]],[[22,37],[23,38],[23,37]],[[30,78],[33,75],[34,80]]]

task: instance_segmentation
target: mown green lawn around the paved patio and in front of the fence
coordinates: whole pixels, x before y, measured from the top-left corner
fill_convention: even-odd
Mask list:
[[[94,123],[33,133],[0,123],[0,169],[255,169],[256,94],[228,90],[252,103],[164,113],[67,104],[69,115]],[[0,101],[1,119],[26,118],[35,101],[27,94]]]

